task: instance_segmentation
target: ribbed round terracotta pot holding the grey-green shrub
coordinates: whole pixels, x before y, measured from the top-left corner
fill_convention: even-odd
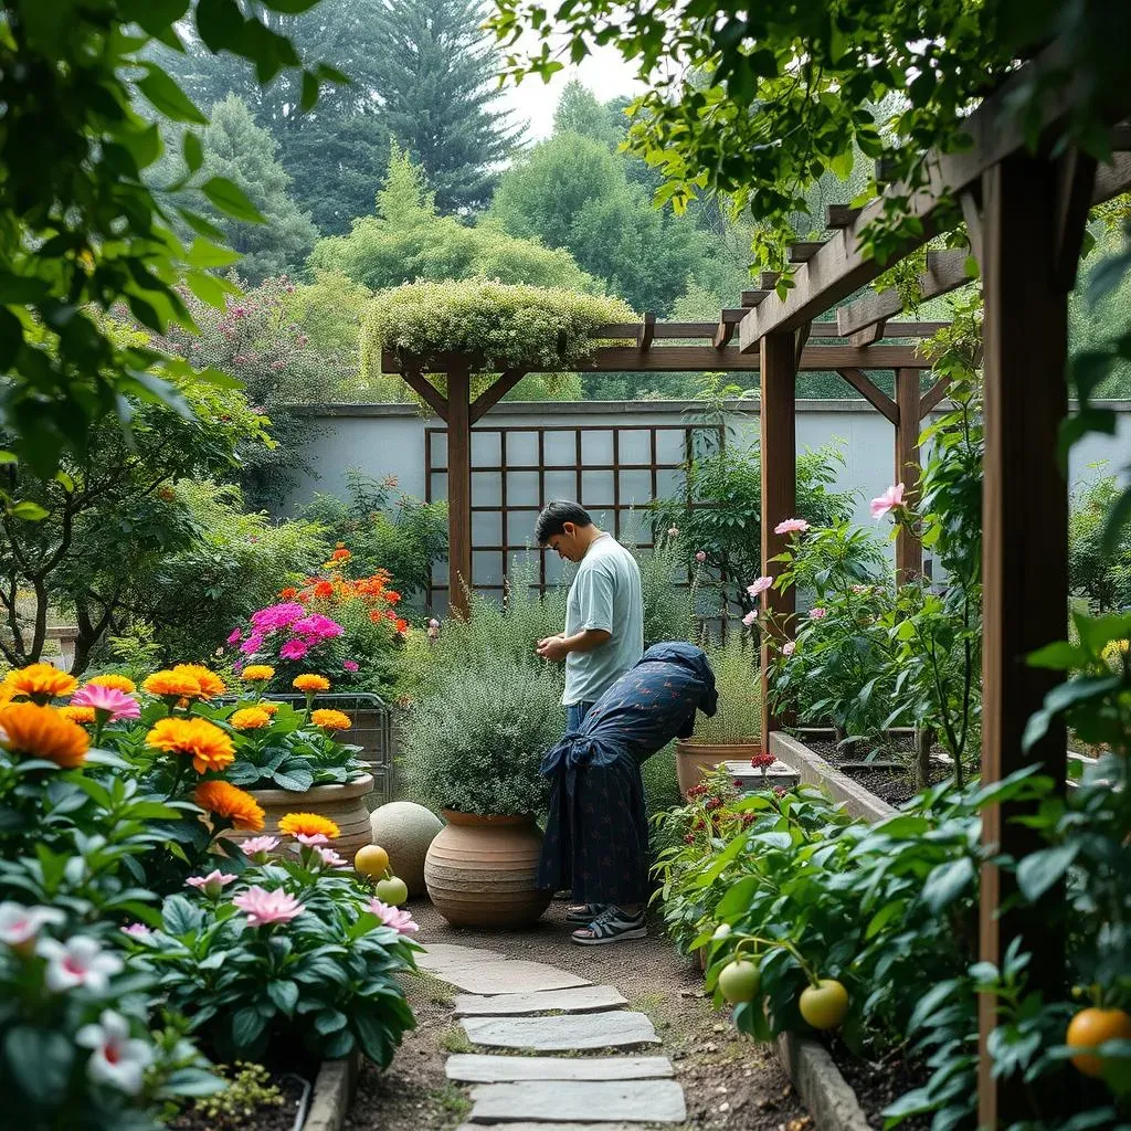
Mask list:
[[[533,817],[442,810],[448,822],[424,860],[435,909],[455,926],[526,926],[550,906],[535,887],[542,834]]]

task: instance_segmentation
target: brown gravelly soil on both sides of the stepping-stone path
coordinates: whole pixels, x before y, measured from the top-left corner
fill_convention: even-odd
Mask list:
[[[675,953],[657,923],[649,924],[647,939],[578,947],[569,941],[563,900],[554,900],[535,926],[513,932],[457,930],[426,901],[409,909],[424,943],[482,947],[620,990],[629,1009],[651,1018],[663,1041],[646,1053],[670,1057],[683,1085],[688,1122],[668,1131],[813,1131],[772,1048],[756,1045],[711,1008],[702,974]],[[429,976],[407,979],[406,988],[417,1028],[386,1071],[363,1065],[347,1131],[450,1131],[470,1107],[467,1090],[443,1074],[451,1053],[472,1051],[451,1013],[452,991]]]

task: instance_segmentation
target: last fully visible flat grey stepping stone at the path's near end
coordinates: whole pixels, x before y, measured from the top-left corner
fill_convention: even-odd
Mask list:
[[[682,1123],[683,1088],[674,1080],[525,1080],[472,1089],[472,1123],[553,1116],[567,1122]]]

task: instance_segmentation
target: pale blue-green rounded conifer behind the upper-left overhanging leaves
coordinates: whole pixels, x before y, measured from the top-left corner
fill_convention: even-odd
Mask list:
[[[210,116],[202,137],[205,176],[235,181],[267,221],[251,224],[210,215],[231,245],[243,254],[240,275],[259,283],[301,267],[318,230],[310,214],[301,211],[288,195],[291,178],[276,158],[277,143],[256,126],[247,103],[234,94],[213,106]]]

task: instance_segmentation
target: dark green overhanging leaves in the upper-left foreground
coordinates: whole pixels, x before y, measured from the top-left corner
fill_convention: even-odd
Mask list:
[[[238,19],[214,12],[215,5],[195,0],[5,5],[0,100],[12,109],[0,143],[0,271],[8,280],[0,428],[9,449],[44,478],[64,449],[85,459],[90,425],[107,413],[126,420],[138,397],[188,411],[169,381],[183,381],[187,368],[145,343],[116,338],[100,314],[124,303],[156,334],[170,322],[190,327],[174,290],[182,276],[196,293],[223,301],[224,287],[207,274],[231,261],[215,242],[222,233],[146,183],[162,140],[135,104],[145,102],[158,122],[187,124],[183,155],[197,181],[204,159],[197,127],[207,124],[147,58],[152,44],[180,44],[182,29],[195,24],[209,52],[254,63],[260,83],[297,72],[308,107],[321,81],[340,77],[325,64],[304,67],[291,41],[266,26],[262,9]],[[200,188],[227,216],[258,217],[224,178]],[[172,230],[174,214],[197,233],[190,248]]]

